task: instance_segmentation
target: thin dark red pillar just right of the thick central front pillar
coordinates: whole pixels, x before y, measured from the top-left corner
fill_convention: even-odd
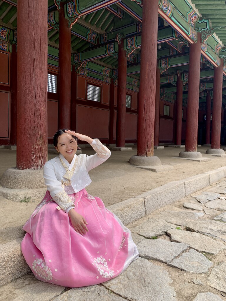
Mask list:
[[[155,90],[155,130],[154,145],[159,146],[159,113],[160,113],[160,70],[156,68],[156,90]]]

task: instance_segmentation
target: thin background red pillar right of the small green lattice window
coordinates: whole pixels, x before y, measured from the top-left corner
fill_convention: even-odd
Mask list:
[[[176,114],[176,145],[181,145],[181,127],[182,127],[182,100],[183,100],[183,81],[181,75],[177,75],[177,114]]]

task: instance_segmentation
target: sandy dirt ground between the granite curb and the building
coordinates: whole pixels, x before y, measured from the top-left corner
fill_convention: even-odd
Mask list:
[[[203,157],[211,158],[210,162],[203,163],[174,158],[183,151],[183,148],[165,147],[164,150],[155,150],[154,155],[160,158],[162,164],[174,166],[173,170],[161,173],[136,168],[128,163],[130,157],[136,155],[136,147],[133,147],[133,151],[112,151],[111,157],[105,163],[89,172],[93,182],[87,187],[87,191],[93,196],[100,197],[105,206],[108,206],[168,182],[226,166],[226,158],[205,154],[206,149],[207,147],[198,148]],[[87,155],[94,154],[90,147],[84,147],[82,151]],[[54,154],[48,155],[49,160],[53,157]],[[14,166],[16,151],[0,149],[0,177],[6,169]],[[44,195],[40,195],[40,201],[43,197]],[[22,237],[24,235],[22,225],[39,202],[31,200],[29,203],[20,203],[1,196],[0,202],[0,243]]]

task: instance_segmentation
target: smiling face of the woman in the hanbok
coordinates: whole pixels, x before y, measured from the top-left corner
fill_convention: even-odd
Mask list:
[[[71,163],[77,151],[77,142],[67,133],[59,136],[56,150],[59,151],[64,158]]]

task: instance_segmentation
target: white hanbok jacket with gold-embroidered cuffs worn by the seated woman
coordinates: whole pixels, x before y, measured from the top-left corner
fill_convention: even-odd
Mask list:
[[[46,162],[43,169],[45,184],[59,210],[68,212],[69,207],[71,209],[75,206],[68,194],[76,193],[88,186],[92,182],[89,170],[103,163],[111,155],[109,149],[98,139],[93,139],[91,146],[96,151],[95,155],[75,154],[71,164],[61,154]],[[40,205],[39,209],[43,206]]]

